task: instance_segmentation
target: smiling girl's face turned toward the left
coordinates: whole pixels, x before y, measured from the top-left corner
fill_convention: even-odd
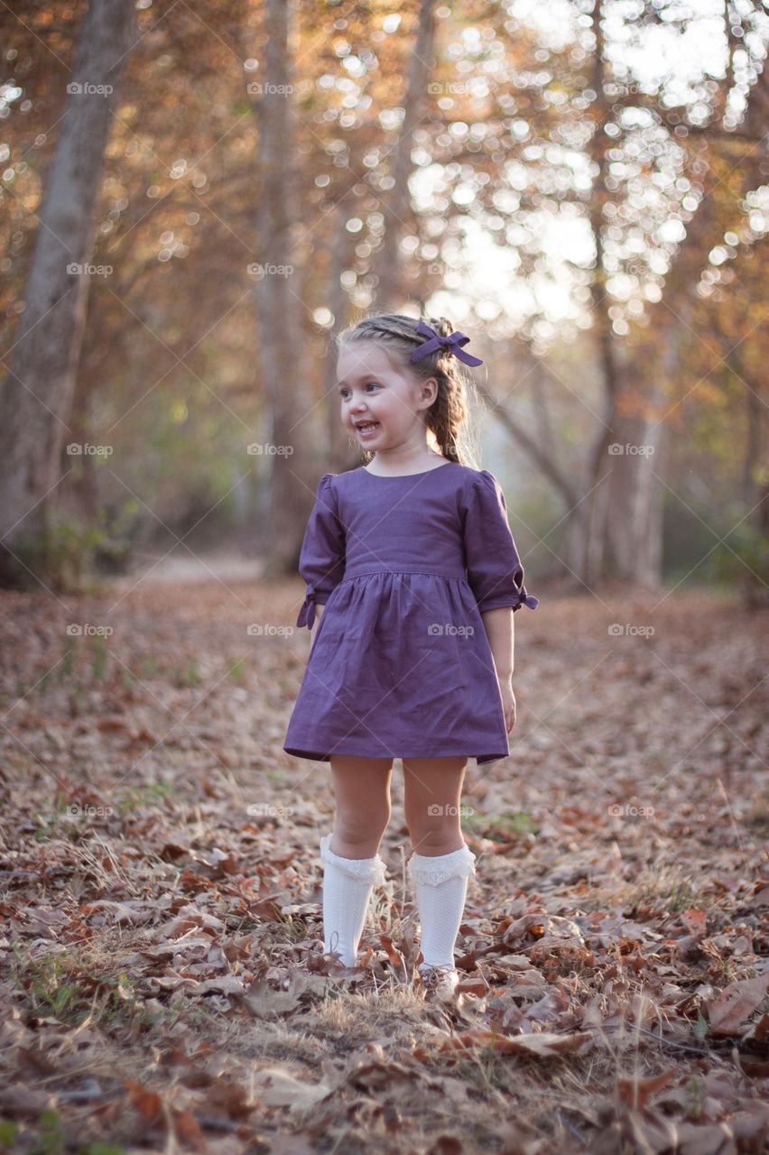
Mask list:
[[[369,453],[424,448],[424,411],[438,396],[435,378],[415,381],[378,341],[342,345],[337,360],[342,423]]]

